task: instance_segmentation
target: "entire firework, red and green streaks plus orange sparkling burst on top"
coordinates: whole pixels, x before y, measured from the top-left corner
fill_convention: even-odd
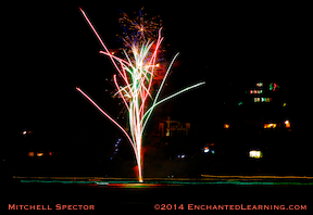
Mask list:
[[[172,65],[175,59],[178,56],[178,53],[174,55],[164,76],[162,77],[162,80],[160,81],[159,89],[153,91],[152,85],[154,84],[153,80],[155,77],[155,71],[159,67],[156,60],[163,40],[163,37],[161,36],[162,27],[152,21],[145,21],[141,14],[138,16],[139,20],[137,18],[136,22],[129,20],[128,16],[124,14],[123,18],[120,20],[120,23],[125,25],[125,28],[127,26],[128,31],[130,29],[132,34],[127,35],[124,39],[124,56],[118,58],[109,51],[86,13],[82,9],[80,11],[104,49],[101,50],[100,53],[108,55],[117,71],[117,75],[113,75],[114,85],[116,87],[115,96],[123,100],[123,103],[128,112],[129,134],[125,127],[120,125],[112,116],[102,110],[86,92],[84,92],[84,90],[78,87],[76,90],[82,93],[82,96],[84,96],[93,106],[96,106],[105,117],[114,123],[127,137],[134,149],[138,167],[138,180],[142,182],[142,136],[153,110],[155,106],[162,102],[165,102],[166,100],[170,100],[187,90],[204,85],[204,81],[195,84],[160,100],[159,97],[170,74]]]

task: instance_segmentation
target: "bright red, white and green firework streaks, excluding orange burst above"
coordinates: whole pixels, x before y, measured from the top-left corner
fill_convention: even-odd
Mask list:
[[[196,88],[198,86],[204,85],[204,83],[196,84],[191,87],[185,88],[170,97],[166,97],[165,99],[162,99],[161,101],[158,101],[159,96],[161,93],[161,90],[164,86],[164,83],[167,78],[168,72],[177,58],[178,53],[173,58],[172,62],[170,63],[167,71],[165,73],[165,76],[163,77],[161,85],[156,91],[156,94],[154,96],[153,102],[148,106],[148,103],[150,100],[148,100],[148,97],[151,99],[152,92],[151,92],[151,86],[153,81],[154,75],[154,68],[159,67],[160,64],[155,64],[158,51],[160,48],[160,45],[163,40],[163,37],[161,37],[161,29],[159,29],[159,36],[156,41],[149,41],[149,40],[142,40],[129,43],[126,46],[126,49],[130,49],[132,55],[129,55],[129,50],[124,50],[124,54],[126,59],[121,59],[115,55],[113,55],[109,49],[104,46],[104,42],[102,41],[101,37],[97,33],[96,28],[87,17],[86,13],[80,9],[85,20],[91,27],[92,31],[99,39],[101,46],[103,47],[104,51],[100,51],[100,53],[108,55],[111,61],[113,62],[113,65],[115,66],[120,78],[120,81],[122,84],[118,84],[116,75],[113,76],[113,80],[115,84],[115,87],[117,89],[115,96],[118,96],[129,114],[129,130],[130,135],[126,131],[126,129],[121,126],[114,118],[112,118],[105,111],[103,111],[86,92],[84,92],[80,88],[76,88],[78,92],[82,93],[86,99],[90,101],[91,104],[93,104],[105,117],[108,117],[111,122],[113,122],[127,137],[129,140],[137,161],[138,166],[138,179],[140,182],[143,181],[142,179],[142,154],[141,154],[141,147],[142,147],[142,136],[145,127],[152,114],[152,111],[156,105],[160,103],[176,97],[189,89]],[[139,30],[142,30],[139,28]],[[155,46],[152,46],[154,45]],[[130,47],[130,48],[128,48]]]

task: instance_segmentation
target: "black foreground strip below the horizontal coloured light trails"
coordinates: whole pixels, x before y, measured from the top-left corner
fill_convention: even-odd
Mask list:
[[[128,184],[129,185],[129,184]],[[1,210],[8,212],[9,204],[49,205],[55,211],[55,204],[95,205],[95,213],[155,212],[155,204],[208,205],[306,205],[306,211],[292,211],[297,214],[312,211],[312,186],[237,186],[237,185],[191,185],[125,188],[111,186],[52,185],[52,184],[4,184],[5,199]],[[3,188],[3,184],[2,184]],[[178,206],[177,206],[178,207]],[[161,211],[161,210],[160,210]],[[13,211],[10,211],[10,213]],[[17,211],[15,211],[17,212]],[[18,211],[22,213],[22,211]],[[32,211],[34,212],[34,211]],[[47,211],[37,211],[47,212]],[[70,211],[63,211],[66,214]],[[71,211],[77,213],[78,211]],[[84,211],[90,214],[93,211]],[[176,210],[178,212],[178,208]],[[195,212],[195,211],[192,211]],[[198,211],[199,212],[199,211]],[[220,212],[221,211],[214,211]],[[225,213],[225,211],[222,211]],[[276,211],[277,212],[277,211]],[[281,211],[280,211],[281,212]],[[208,213],[208,212],[206,212]],[[210,212],[212,213],[212,211]],[[230,213],[230,212],[228,212]],[[285,213],[285,211],[284,211]]]

